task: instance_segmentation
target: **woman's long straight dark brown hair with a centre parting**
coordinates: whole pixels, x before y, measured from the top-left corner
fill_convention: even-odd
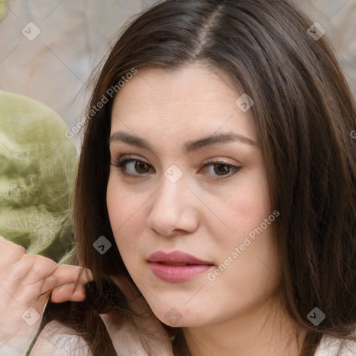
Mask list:
[[[348,337],[356,323],[356,140],[350,137],[356,108],[330,44],[325,36],[314,40],[310,26],[286,0],[163,1],[122,33],[88,108],[133,68],[175,70],[195,61],[223,70],[236,90],[252,97],[270,199],[280,211],[275,229],[283,307],[307,332],[302,356],[314,355],[324,333]],[[109,99],[86,124],[75,193],[79,261],[98,283],[107,275],[129,278],[106,208],[112,104]],[[93,248],[99,236],[113,245],[105,254]],[[316,326],[307,318],[314,307],[326,316]],[[95,312],[84,314],[81,331],[92,330],[93,320],[102,325]],[[112,355],[102,347],[105,329],[97,330],[84,335],[92,352]],[[183,355],[177,332],[175,354]]]

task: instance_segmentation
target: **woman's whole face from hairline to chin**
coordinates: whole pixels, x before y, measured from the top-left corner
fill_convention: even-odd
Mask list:
[[[278,285],[279,213],[242,94],[195,64],[140,69],[113,104],[111,227],[133,281],[168,325],[238,318]]]

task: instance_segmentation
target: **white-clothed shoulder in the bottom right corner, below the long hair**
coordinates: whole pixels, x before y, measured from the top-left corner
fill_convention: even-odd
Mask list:
[[[356,355],[356,333],[354,332],[354,341],[348,339],[337,339],[327,335],[323,336],[316,349],[314,356],[355,356]]]

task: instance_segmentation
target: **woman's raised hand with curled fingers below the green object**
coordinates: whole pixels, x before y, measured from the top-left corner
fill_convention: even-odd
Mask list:
[[[25,355],[38,331],[44,306],[51,300],[81,301],[87,273],[46,257],[26,254],[0,236],[0,354]],[[89,276],[90,277],[90,276]]]

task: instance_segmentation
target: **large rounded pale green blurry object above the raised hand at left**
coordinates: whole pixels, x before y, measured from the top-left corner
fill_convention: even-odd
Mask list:
[[[0,91],[0,234],[58,263],[74,257],[78,154],[48,106]]]

